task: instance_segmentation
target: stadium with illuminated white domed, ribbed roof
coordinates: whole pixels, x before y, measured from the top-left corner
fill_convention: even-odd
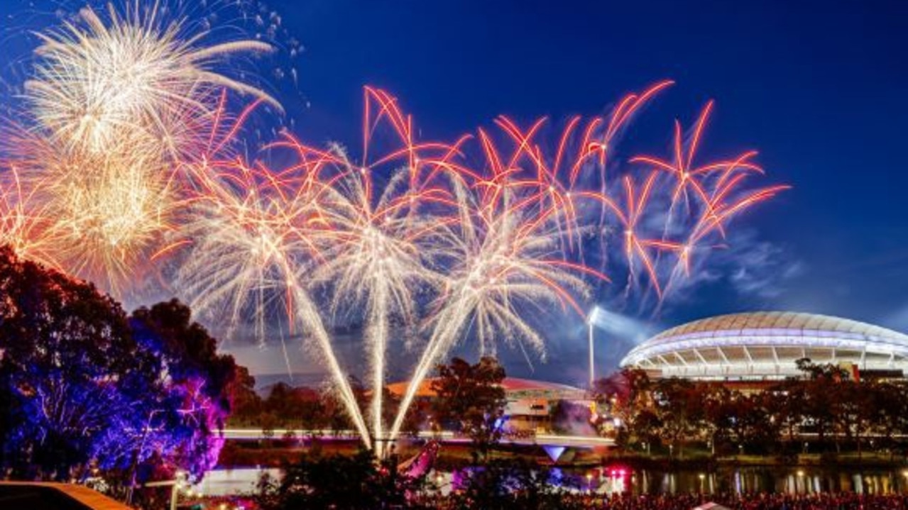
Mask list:
[[[809,313],[735,313],[667,329],[632,349],[620,365],[656,378],[772,380],[801,375],[799,358],[849,368],[860,378],[903,378],[908,335]]]

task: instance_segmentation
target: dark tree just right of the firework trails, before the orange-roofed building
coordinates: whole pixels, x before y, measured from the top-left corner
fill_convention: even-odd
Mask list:
[[[449,365],[439,365],[438,371],[439,377],[432,381],[434,419],[451,423],[469,436],[478,461],[501,438],[501,417],[508,402],[501,387],[505,369],[497,359],[484,357],[475,365],[453,358]]]

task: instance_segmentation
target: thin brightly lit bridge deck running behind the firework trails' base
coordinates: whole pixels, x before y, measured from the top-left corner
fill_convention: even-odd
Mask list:
[[[301,430],[293,428],[275,428],[266,436],[261,428],[225,428],[224,437],[235,441],[254,441],[260,439],[282,439],[292,433],[297,439],[317,436],[322,441],[359,441],[359,436],[352,430]],[[407,436],[403,437],[405,440]],[[420,439],[435,439],[445,444],[468,444],[469,437],[455,436],[453,432],[434,433],[419,432]],[[499,443],[524,446],[566,446],[574,448],[593,448],[597,446],[615,446],[614,439],[589,436],[561,436],[557,434],[537,434],[530,437],[502,437]]]

